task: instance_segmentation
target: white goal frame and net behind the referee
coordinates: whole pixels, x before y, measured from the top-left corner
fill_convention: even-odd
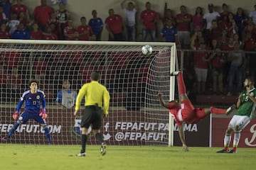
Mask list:
[[[151,45],[151,55],[142,54],[143,45]],[[58,95],[65,96],[60,92],[65,80],[70,82],[70,90],[78,93],[82,84],[90,82],[90,72],[98,70],[102,74],[100,83],[111,96],[109,116],[102,123],[107,144],[173,145],[174,123],[157,94],[161,91],[166,100],[174,99],[174,78],[169,74],[174,71],[175,60],[174,43],[0,40],[1,136],[15,123],[11,115],[28,90],[28,81],[37,79],[39,89],[46,94],[53,142],[79,144],[80,116],[74,118],[73,103],[70,108],[59,101]],[[18,127],[9,142],[45,144],[47,140],[43,128],[29,120]],[[97,141],[89,135],[87,143],[94,145]]]

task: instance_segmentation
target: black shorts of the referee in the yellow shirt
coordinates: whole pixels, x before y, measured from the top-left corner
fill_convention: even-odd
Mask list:
[[[81,127],[89,128],[92,125],[93,130],[99,130],[102,124],[102,110],[97,105],[85,106],[82,113]]]

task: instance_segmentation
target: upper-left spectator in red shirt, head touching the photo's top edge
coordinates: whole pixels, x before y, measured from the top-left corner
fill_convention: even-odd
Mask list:
[[[53,8],[47,5],[47,0],[41,0],[41,5],[36,6],[33,11],[33,18],[41,30],[45,31],[48,21],[50,20],[50,14],[53,12]]]

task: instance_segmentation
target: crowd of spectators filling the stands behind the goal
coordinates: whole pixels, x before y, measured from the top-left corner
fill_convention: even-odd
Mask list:
[[[62,1],[57,10],[49,6],[47,0],[41,0],[40,6],[28,11],[22,0],[13,1],[12,4],[9,0],[1,0],[0,38],[101,40],[102,30],[106,29],[110,41],[176,42],[179,57],[185,57],[183,68],[188,91],[192,91],[196,86],[197,94],[211,91],[213,94],[237,95],[246,76],[255,79],[256,4],[250,13],[245,13],[239,6],[233,13],[229,11],[228,4],[222,4],[222,10],[215,11],[215,6],[208,4],[204,13],[201,6],[196,8],[195,13],[188,13],[187,7],[182,5],[180,11],[174,14],[165,6],[163,15],[154,11],[149,1],[145,6],[139,6],[137,1],[124,0],[121,7],[123,15],[114,13],[114,8],[110,8],[104,23],[102,18],[97,16],[97,10],[93,9],[89,21],[85,16],[81,16],[80,25],[74,26],[74,18]],[[137,13],[138,8],[144,9]],[[162,28],[156,38],[159,21]],[[137,29],[137,23],[142,25],[141,31]],[[12,57],[13,62],[28,62]],[[6,57],[3,58],[0,62],[4,63]],[[41,70],[36,72],[37,79],[46,79],[46,69],[43,68],[45,65],[41,64],[46,61],[43,60],[45,58],[38,57],[34,62],[41,65]],[[13,63],[13,66],[15,65],[18,63]],[[11,73],[16,75],[19,68],[8,67],[10,68]],[[1,69],[0,64],[2,77],[8,69]],[[193,79],[196,79],[196,82]],[[9,81],[12,81],[12,78]],[[2,86],[6,83],[8,84],[1,82]],[[14,86],[12,89],[18,87]]]

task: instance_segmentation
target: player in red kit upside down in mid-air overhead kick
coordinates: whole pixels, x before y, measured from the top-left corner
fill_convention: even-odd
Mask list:
[[[231,106],[227,110],[221,109],[221,108],[194,108],[193,104],[189,100],[187,94],[186,94],[186,86],[183,81],[183,74],[180,71],[174,72],[171,74],[171,76],[177,76],[178,77],[178,94],[180,103],[176,101],[170,101],[166,102],[162,98],[162,94],[159,92],[159,101],[161,103],[161,106],[164,106],[165,108],[169,109],[169,112],[171,113],[172,117],[176,121],[176,124],[178,126],[178,134],[182,142],[183,151],[188,151],[188,147],[185,142],[184,132],[183,132],[183,123],[193,124],[198,123],[201,119],[206,118],[207,115],[210,113],[214,114],[229,114],[231,113],[235,108]]]

